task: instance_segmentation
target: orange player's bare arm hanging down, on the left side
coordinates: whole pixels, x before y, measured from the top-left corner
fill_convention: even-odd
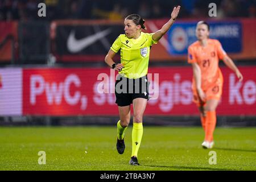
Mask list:
[[[197,63],[192,63],[193,68],[193,77],[195,78],[196,82],[196,90],[199,94],[199,97],[202,101],[205,100],[205,94],[201,88],[201,69]]]

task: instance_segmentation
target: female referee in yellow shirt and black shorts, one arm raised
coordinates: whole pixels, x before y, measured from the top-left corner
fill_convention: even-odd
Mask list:
[[[133,131],[131,165],[139,165],[137,154],[141,145],[143,125],[142,118],[148,100],[147,70],[150,48],[170,29],[179,14],[180,6],[174,7],[171,19],[152,34],[146,30],[144,20],[137,14],[125,18],[125,34],[121,34],[113,43],[105,57],[106,64],[119,72],[115,82],[115,103],[118,105],[120,120],[117,122],[117,151],[125,151],[124,135],[130,123],[130,109],[133,104]],[[113,57],[120,49],[121,63],[115,64]]]

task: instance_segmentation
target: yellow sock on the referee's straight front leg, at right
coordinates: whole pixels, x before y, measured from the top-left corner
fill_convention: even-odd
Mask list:
[[[139,146],[141,146],[142,135],[143,135],[142,123],[133,123],[133,131],[131,133],[133,148],[132,148],[131,156],[138,155]]]

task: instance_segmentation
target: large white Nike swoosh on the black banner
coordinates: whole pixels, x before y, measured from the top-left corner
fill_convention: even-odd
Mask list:
[[[68,42],[67,42],[68,50],[72,53],[77,53],[77,52],[81,51],[82,49],[90,46],[97,40],[104,38],[104,36],[108,35],[110,32],[111,32],[110,28],[108,28],[104,31],[97,32],[96,34],[89,35],[86,38],[77,40],[75,38],[75,31],[72,30],[68,36]]]

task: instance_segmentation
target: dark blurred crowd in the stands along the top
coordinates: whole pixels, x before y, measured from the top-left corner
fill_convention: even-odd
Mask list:
[[[208,5],[217,5],[217,18],[256,17],[256,0],[0,0],[0,20],[38,19],[38,4],[46,3],[46,20],[112,19],[137,13],[143,18],[169,18],[181,5],[179,18],[208,16]]]

